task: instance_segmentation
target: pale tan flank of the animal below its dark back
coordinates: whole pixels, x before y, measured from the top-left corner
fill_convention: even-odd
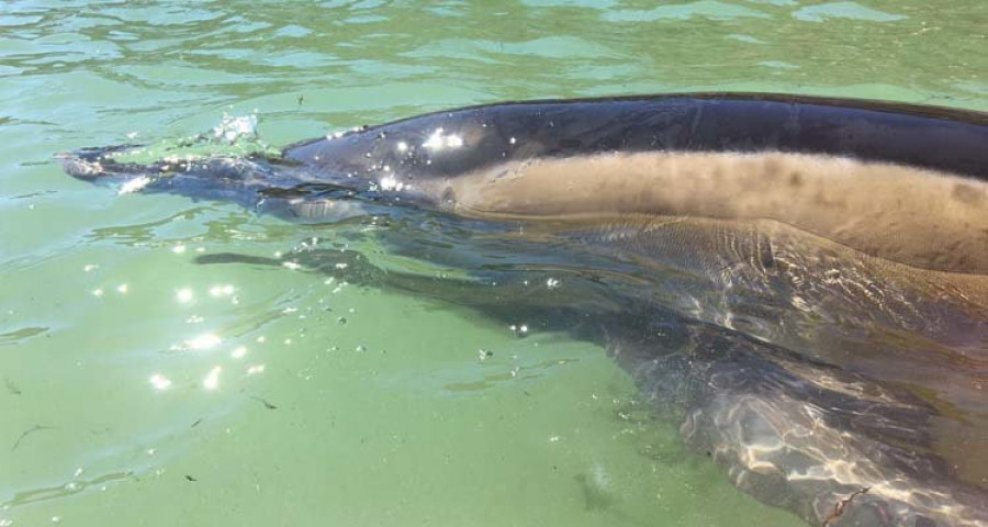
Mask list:
[[[452,210],[468,216],[776,220],[889,260],[988,273],[988,184],[892,164],[616,153],[499,165],[442,184]]]

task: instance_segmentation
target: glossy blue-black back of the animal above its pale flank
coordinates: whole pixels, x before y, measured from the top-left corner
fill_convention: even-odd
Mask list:
[[[464,147],[429,155],[419,147],[436,131]],[[420,115],[300,143],[284,156],[334,172],[388,166],[448,177],[512,160],[661,150],[823,154],[988,180],[988,114],[744,93],[531,101]]]

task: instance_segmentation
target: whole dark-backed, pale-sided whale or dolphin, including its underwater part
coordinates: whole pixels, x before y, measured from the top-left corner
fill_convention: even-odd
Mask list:
[[[278,158],[124,150],[64,165],[306,221],[395,211],[384,245],[468,279],[291,257],[607,346],[691,446],[811,524],[988,524],[986,114],[688,94],[438,112]]]

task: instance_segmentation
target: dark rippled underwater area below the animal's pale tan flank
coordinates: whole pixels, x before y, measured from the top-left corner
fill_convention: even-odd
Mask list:
[[[988,277],[911,268],[772,221],[378,212],[281,259],[198,261],[289,262],[469,307],[519,336],[526,322],[606,346],[645,399],[683,416],[687,445],[811,524],[863,489],[842,522],[986,517],[988,470],[970,459],[988,455]]]

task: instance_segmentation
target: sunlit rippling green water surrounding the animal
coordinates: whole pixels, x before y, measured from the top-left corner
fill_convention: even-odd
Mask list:
[[[685,450],[599,348],[195,265],[333,229],[117,197],[52,156],[255,110],[274,145],[673,90],[986,110],[986,26],[983,0],[3,3],[0,526],[800,525]]]

